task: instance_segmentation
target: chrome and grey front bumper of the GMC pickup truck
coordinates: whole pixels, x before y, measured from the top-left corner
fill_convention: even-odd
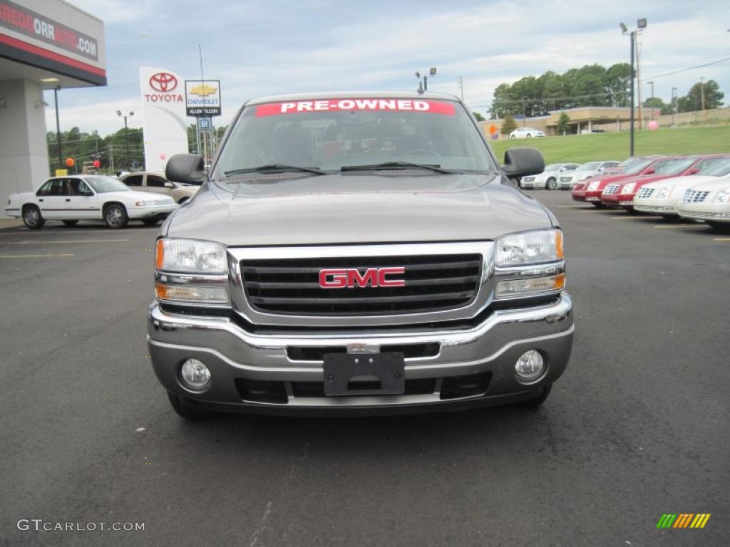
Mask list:
[[[148,310],[147,343],[153,369],[167,391],[224,411],[276,411],[318,408],[393,408],[448,406],[450,403],[499,404],[526,398],[556,381],[570,357],[573,338],[572,302],[561,294],[554,303],[530,308],[493,311],[484,322],[466,330],[427,330],[418,333],[301,333],[270,335],[250,333],[227,317],[171,314],[153,303]],[[438,344],[431,357],[406,358],[405,378],[443,379],[490,373],[484,393],[442,400],[438,387],[430,394],[357,397],[298,397],[291,382],[322,382],[321,361],[288,357],[288,349],[346,346],[348,352],[377,352],[380,346]],[[545,374],[531,384],[515,376],[515,362],[529,349],[537,349],[547,361]],[[211,371],[204,392],[192,392],[180,381],[180,365],[186,359],[201,360]],[[257,403],[244,400],[237,379],[283,381],[288,401]]]

